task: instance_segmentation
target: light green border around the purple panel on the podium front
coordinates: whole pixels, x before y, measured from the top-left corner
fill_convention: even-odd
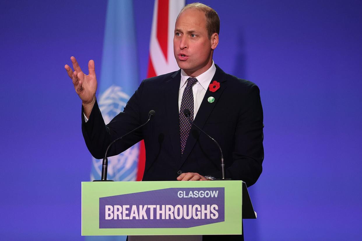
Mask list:
[[[82,182],[81,234],[201,235],[241,234],[242,181]],[[165,188],[225,188],[225,221],[191,228],[99,228],[99,198]]]

